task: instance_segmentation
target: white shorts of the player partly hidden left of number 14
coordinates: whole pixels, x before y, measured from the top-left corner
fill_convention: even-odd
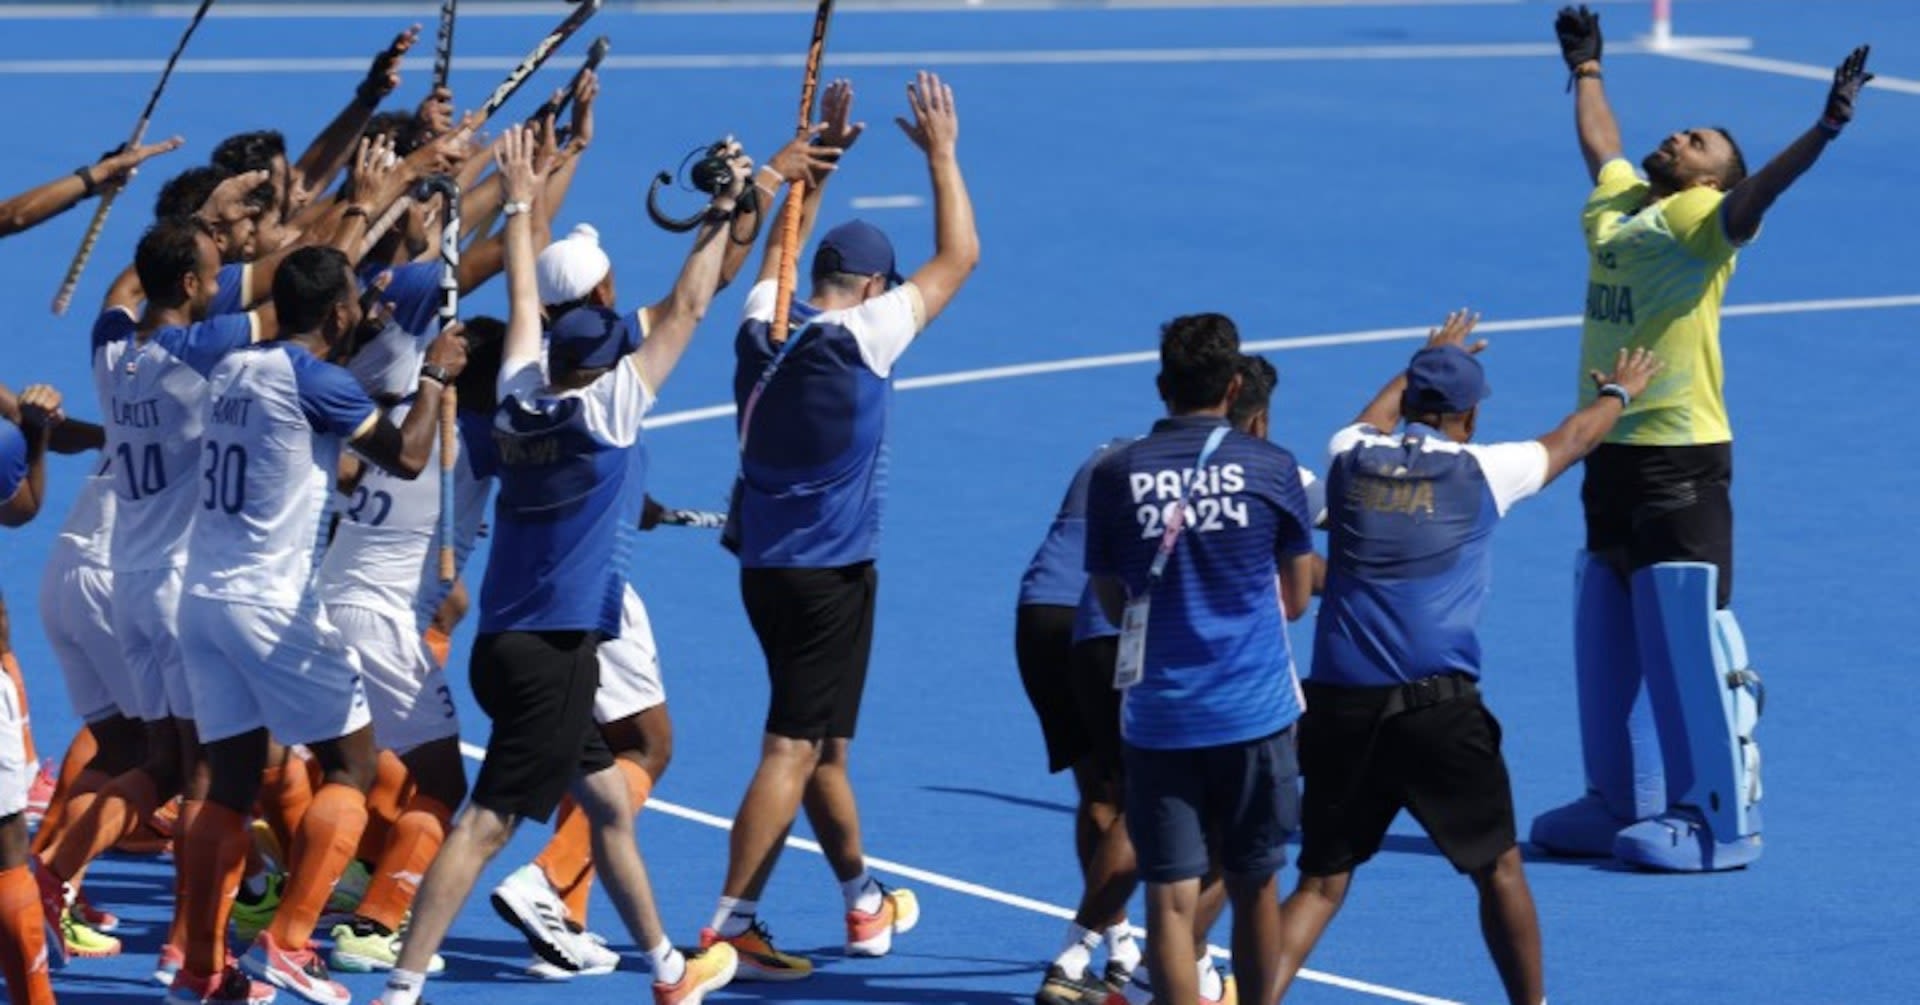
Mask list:
[[[140,719],[140,699],[113,638],[111,569],[48,563],[40,573],[40,628],[81,723],[90,726],[115,715]]]

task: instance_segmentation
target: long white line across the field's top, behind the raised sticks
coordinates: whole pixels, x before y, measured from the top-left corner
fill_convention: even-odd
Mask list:
[[[1743,40],[1732,40],[1743,42]],[[1732,44],[1730,42],[1730,44]],[[1647,54],[1645,46],[1620,44],[1617,54]],[[1229,46],[1229,48],[1043,48],[1043,50],[908,50],[835,52],[837,67],[922,67],[922,65],[1169,65],[1169,63],[1304,63],[1373,60],[1513,60],[1559,56],[1557,44],[1413,44],[1413,46]],[[1692,58],[1693,54],[1668,54]],[[551,60],[555,67],[578,67],[580,56]],[[520,56],[455,58],[455,71],[513,69]],[[712,52],[687,56],[609,56],[603,71],[614,69],[791,69],[806,63],[799,52]],[[4,60],[0,75],[154,75],[165,60]],[[180,60],[175,73],[367,73],[365,56],[286,56]],[[1878,83],[1878,81],[1876,81]]]

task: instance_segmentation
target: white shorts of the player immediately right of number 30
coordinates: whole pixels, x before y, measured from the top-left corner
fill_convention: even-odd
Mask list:
[[[380,748],[407,753],[461,734],[447,674],[426,651],[413,611],[328,603],[326,619],[359,657]]]

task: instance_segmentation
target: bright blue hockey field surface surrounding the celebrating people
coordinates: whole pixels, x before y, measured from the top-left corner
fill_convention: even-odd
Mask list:
[[[1630,42],[1645,29],[1645,6],[1605,4],[1607,86],[1636,158],[1670,131],[1713,123],[1732,129],[1757,165],[1818,117],[1826,88],[1807,73],[1830,73],[1859,42],[1876,42],[1874,69],[1893,86],[1860,98],[1857,125],[1772,209],[1728,296],[1740,307],[1722,332],[1738,430],[1736,609],[1770,692],[1759,730],[1766,855],[1715,876],[1530,855],[1548,988],[1555,1005],[1912,1001],[1920,851],[1907,828],[1920,786],[1903,765],[1920,749],[1920,719],[1903,686],[1916,669],[1908,590],[1920,569],[1920,465],[1872,444],[1901,442],[1920,373],[1920,4],[1678,8],[1682,35],[1749,48],[1720,61],[1638,52]],[[152,127],[188,146],[121,198],[69,317],[54,319],[46,304],[92,204],[0,244],[10,329],[0,380],[54,382],[73,415],[96,417],[86,331],[165,177],[242,129],[276,127],[301,146],[413,21],[428,42],[396,102],[420,98],[434,4],[342,10],[288,6],[204,25]],[[463,17],[453,75],[463,108],[566,6],[515,10],[524,13]],[[1154,365],[1108,357],[1154,350],[1173,315],[1233,315],[1246,340],[1271,342],[1281,369],[1273,438],[1323,469],[1329,434],[1405,363],[1423,327],[1471,306],[1492,325],[1484,359],[1496,396],[1480,438],[1546,432],[1571,407],[1588,179],[1551,15],[1553,4],[1515,2],[985,6],[835,19],[828,73],[854,81],[870,131],[833,179],[822,223],[864,215],[893,234],[902,265],[929,254],[929,209],[893,198],[925,198],[925,169],[889,121],[904,113],[912,69],[927,65],[960,102],[960,156],[983,236],[973,281],[899,367],[879,626],[854,746],[868,849],[891,863],[876,863],[887,882],[916,888],[925,917],[891,957],[843,959],[833,876],[816,853],[791,849],[762,917],[783,945],[818,947],[822,972],[716,999],[1031,1001],[1079,878],[1071,784],[1044,772],[1014,671],[1014,592],[1087,452],[1144,430],[1160,411]],[[125,138],[182,17],[0,8],[12,111],[0,190],[71,171]],[[808,27],[801,8],[611,8],[509,108],[524,113],[559,86],[591,35],[612,38],[597,142],[557,231],[582,221],[601,231],[626,302],[659,298],[685,250],[645,221],[653,171],[724,133],[770,154],[793,129]],[[854,209],[872,198],[881,208]],[[662,390],[647,442],[651,490],[668,505],[724,503],[732,423],[695,409],[732,400],[743,292],[722,294]],[[468,313],[503,306],[497,282],[463,304]],[[75,719],[35,600],[86,459],[50,467],[42,519],[0,534],[0,588],[35,732],[42,755],[56,757]],[[1580,542],[1572,478],[1519,505],[1496,536],[1484,688],[1505,724],[1523,830],[1580,788],[1571,667]],[[670,932],[691,942],[720,890],[724,824],[753,771],[766,684],[737,565],[712,532],[660,528],[643,544],[632,573],[662,650],[676,755],[639,836]],[[1309,621],[1296,623],[1296,651],[1309,640]],[[468,642],[470,625],[451,678],[468,740],[482,744]],[[645,993],[643,957],[624,936],[614,945],[628,963],[614,976],[572,988],[518,976],[524,945],[484,905],[484,890],[543,840],[543,828],[526,828],[484,876],[447,944],[434,1001]],[[61,1001],[157,1001],[146,974],[171,869],[108,859],[88,890],[129,919],[129,951],[56,976]],[[595,928],[612,934],[605,897],[593,911]],[[1225,938],[1221,926],[1215,942]],[[1323,976],[1288,1001],[1503,999],[1469,882],[1409,819],[1359,872],[1311,965]],[[380,986],[346,984],[357,1001]]]

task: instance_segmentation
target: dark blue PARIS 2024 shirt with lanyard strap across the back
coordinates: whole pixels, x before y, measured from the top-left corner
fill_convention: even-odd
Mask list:
[[[1227,432],[1194,471],[1215,417],[1173,417],[1127,444],[1087,486],[1087,571],[1146,590],[1167,519],[1192,509],[1152,592],[1144,676],[1127,690],[1121,734],[1148,749],[1271,736],[1300,719],[1281,615],[1279,563],[1313,550],[1300,469],[1286,450]]]

